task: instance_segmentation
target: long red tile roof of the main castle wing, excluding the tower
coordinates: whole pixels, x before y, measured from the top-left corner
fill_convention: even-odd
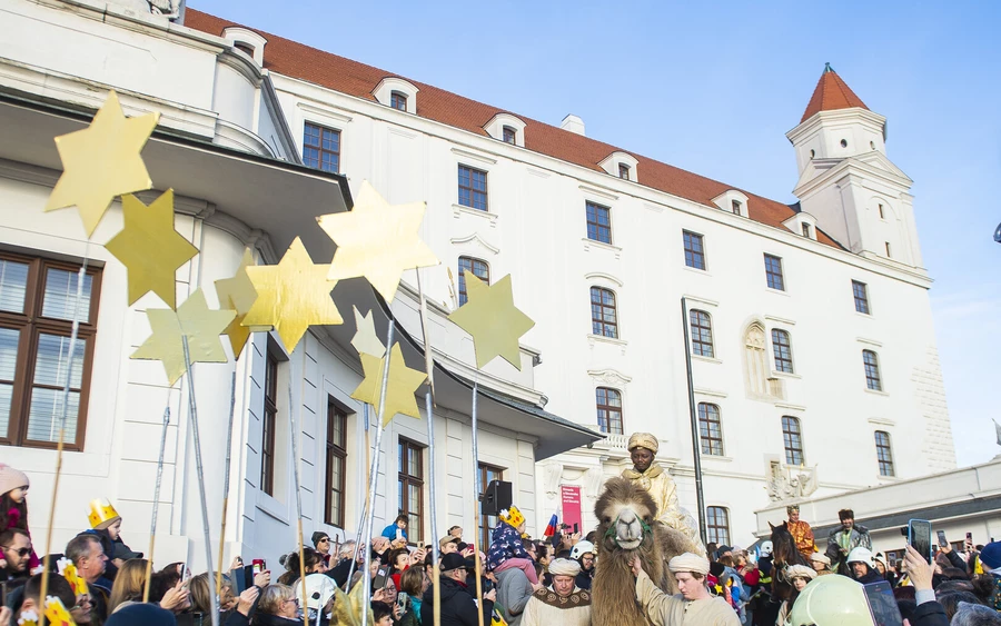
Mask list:
[[[371,66],[359,63],[337,54],[324,52],[303,43],[277,37],[258,29],[251,29],[210,16],[208,13],[187,9],[185,26],[221,36],[228,27],[247,28],[259,32],[267,39],[265,47],[264,67],[270,71],[291,78],[313,82],[335,91],[340,91],[357,98],[375,100],[373,90],[380,80],[388,76],[396,76]],[[448,126],[453,126],[476,135],[487,136],[484,126],[499,112],[509,112],[476,102],[456,93],[425,85],[416,80],[407,79],[420,90],[417,98],[417,115]],[[516,115],[516,113],[512,113]],[[585,168],[604,171],[598,166],[612,152],[621,150],[615,146],[604,143],[562,128],[538,122],[523,116],[517,116],[526,122],[525,148],[547,155]],[[626,151],[626,150],[621,150]],[[632,152],[630,152],[632,153]],[[632,153],[638,161],[641,183],[680,196],[688,200],[714,207],[712,199],[729,189],[735,189],[730,185],[718,182],[685,171],[683,169]],[[747,191],[743,191],[747,198],[747,211],[751,219],[785,229],[782,222],[795,213],[795,210],[782,202],[770,200]],[[829,246],[841,246],[826,233],[817,230],[817,240]]]

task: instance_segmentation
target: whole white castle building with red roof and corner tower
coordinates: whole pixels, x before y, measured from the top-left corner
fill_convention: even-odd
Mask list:
[[[201,554],[187,391],[170,390],[158,364],[128,359],[148,335],[142,310],[162,305],[147,296],[125,306],[125,270],[102,247],[120,210],[90,246],[75,211],[41,212],[60,168],[51,138],[81,128],[112,88],[128,115],[162,116],[147,162],[158,189],[177,190],[178,229],[202,251],[178,272],[179,300],[205,287],[215,304],[211,281],[232,274],[244,246],[270,264],[301,236],[315,261],[329,261],[333,246],[314,217],[349,208],[361,180],[392,203],[427,201],[422,237],[443,261],[422,275],[443,372],[438,455],[427,454],[423,421],[398,418],[385,438],[377,506],[380,520],[408,513],[420,539],[430,537],[432,506],[444,527],[473,536],[474,379],[486,387],[478,471],[513,483],[534,531],[565,513],[562,486],[581,488],[589,526],[602,481],[630,465],[625,441],[635,430],[660,438],[658,459],[695,511],[685,326],[710,540],[749,543],[754,511],[773,501],[954,468],[911,180],[886,156],[885,118],[830,68],[787,133],[800,200],[787,206],[589,139],[572,115],[543,123],[252,24],[192,8],[168,21],[138,4],[4,2],[0,246],[9,262],[30,267],[71,270],[89,255],[100,274],[58,539],[103,496],[126,516],[126,540],[145,545],[169,401],[178,426],[163,541],[171,556],[197,563]],[[475,372],[468,337],[445,320],[465,298],[463,269],[489,281],[512,275],[515,302],[536,321],[523,338],[523,371],[495,361]],[[27,276],[40,280],[37,270]],[[415,274],[404,282],[392,312],[419,367]],[[274,558],[291,547],[293,436],[307,536],[356,531],[365,439],[348,397],[360,380],[350,306],[376,310],[381,336],[389,311],[364,281],[338,285],[334,299],[346,324],[313,329],[291,355],[258,334],[235,364],[197,366],[200,413],[215,416],[202,419],[215,446],[206,471],[214,528],[237,372],[225,537],[232,554]],[[30,316],[22,321],[33,328]],[[39,496],[50,488],[52,444],[32,429],[38,387],[19,358],[0,460],[39,477],[37,531],[48,516]],[[265,384],[268,368],[280,393]],[[289,414],[300,416],[296,431],[284,426]],[[434,503],[428,464],[439,477]]]

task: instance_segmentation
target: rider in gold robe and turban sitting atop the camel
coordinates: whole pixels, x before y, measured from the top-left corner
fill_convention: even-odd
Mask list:
[[[686,520],[687,513],[677,504],[677,487],[674,479],[654,460],[658,449],[657,438],[650,433],[633,433],[628,444],[633,468],[623,470],[622,476],[638,483],[650,493],[657,506],[657,521],[684,534],[693,547],[705,552],[698,538],[698,529]]]

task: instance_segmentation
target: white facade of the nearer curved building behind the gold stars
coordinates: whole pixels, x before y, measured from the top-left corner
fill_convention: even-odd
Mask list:
[[[42,211],[61,167],[53,137],[83,128],[113,88],[127,115],[161,113],[159,133],[150,140],[143,158],[157,189],[176,190],[177,229],[200,250],[177,272],[179,304],[201,288],[209,306],[216,306],[214,281],[232,276],[247,246],[259,262],[274,264],[300,236],[315,261],[329,262],[334,246],[315,216],[346,210],[350,193],[344,177],[296,165],[300,162],[298,147],[288,132],[287,120],[277,115],[271,78],[260,69],[259,54],[266,49],[262,38],[232,29],[227,40],[168,23],[163,18],[86,1],[13,0],[6,2],[3,10],[0,250],[21,255],[18,258],[56,259],[71,265],[79,265],[87,257],[89,266],[99,268],[101,276],[92,367],[85,381],[89,389],[86,428],[81,445],[65,455],[52,550],[61,552],[68,539],[88,527],[91,499],[107,497],[123,516],[126,543],[138,552],[147,552],[166,407],[170,408],[171,423],[159,505],[158,563],[184,560],[195,570],[205,567],[197,489],[204,478],[214,544],[219,540],[224,493],[229,494],[227,563],[232,555],[241,554],[245,558],[267,558],[272,568],[277,567],[278,556],[296,545],[296,461],[301,473],[307,541],[314,530],[339,539],[354,536],[367,464],[363,409],[349,396],[361,380],[360,364],[349,344],[355,331],[351,306],[363,312],[374,311],[384,340],[388,312],[368,285],[361,279],[339,282],[334,298],[345,325],[310,329],[290,355],[281,348],[277,335],[271,334],[269,339],[268,334],[258,332],[239,360],[195,366],[205,456],[204,476],[199,476],[188,421],[188,385],[182,379],[171,388],[159,362],[128,358],[150,334],[145,309],[161,308],[163,304],[147,295],[135,306],[125,306],[126,269],[103,247],[121,229],[119,203],[109,209],[90,242],[75,209]],[[235,49],[234,42],[244,48]],[[299,132],[300,129],[296,131]],[[360,181],[360,177],[354,179]],[[399,190],[389,199],[399,201],[398,193]],[[157,195],[150,191],[140,196],[149,202]],[[412,196],[407,201],[419,197]],[[412,529],[412,539],[430,539],[427,510],[432,506],[439,511],[439,524],[462,525],[470,529],[472,538],[478,507],[475,486],[469,480],[474,460],[468,381],[477,378],[484,390],[479,401],[479,459],[503,468],[504,478],[513,483],[523,501],[529,501],[534,493],[537,459],[596,437],[542,410],[544,403],[535,388],[532,367],[537,352],[523,352],[526,367],[522,371],[494,365],[477,376],[470,365],[474,361],[468,337],[444,319],[447,311],[437,306],[430,309],[438,381],[438,455],[430,458],[427,453],[424,419],[398,417],[386,430],[375,506],[376,533],[397,514],[397,445],[406,438],[422,450],[418,454],[425,483],[428,464],[434,463],[440,485],[434,503],[427,487],[422,490],[423,524]],[[397,339],[410,367],[423,368],[416,311],[416,294],[402,286],[393,304],[398,319]],[[227,339],[222,341],[228,345]],[[280,360],[270,495],[260,488],[264,374],[269,342]],[[229,450],[232,475],[229,485],[224,486],[234,374],[236,426]],[[19,369],[16,384],[23,386],[26,376]],[[326,523],[326,495],[331,487],[326,465],[330,405],[348,414],[344,523],[336,525]],[[20,414],[11,415],[12,421],[19,419]],[[289,418],[296,420],[296,428],[291,428]],[[0,437],[6,436],[7,433],[0,433]],[[291,454],[294,437],[300,459]],[[30,523],[41,554],[50,513],[54,453],[24,445],[22,439],[0,446],[0,460],[28,473],[32,480]],[[534,507],[525,509],[528,519],[534,520]]]

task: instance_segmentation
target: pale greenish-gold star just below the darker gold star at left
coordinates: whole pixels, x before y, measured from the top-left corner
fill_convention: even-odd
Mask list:
[[[170,309],[147,309],[146,315],[152,335],[130,358],[163,361],[167,380],[171,385],[186,371],[182,336],[188,337],[188,355],[192,364],[226,362],[226,351],[219,335],[236,314],[209,309],[201,289],[188,296],[177,308],[177,312]]]

